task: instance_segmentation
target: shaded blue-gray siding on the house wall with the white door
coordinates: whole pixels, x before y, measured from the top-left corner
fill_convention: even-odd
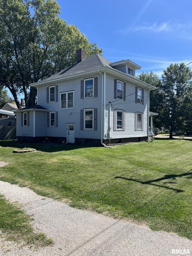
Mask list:
[[[75,124],[75,137],[84,138],[101,138],[101,75],[98,75],[98,97],[81,99],[81,80],[88,77],[73,79],[58,83],[58,102],[47,103],[46,88],[42,86],[38,88],[38,104],[47,108],[49,111],[58,111],[58,127],[46,127],[46,136],[67,137],[67,123]],[[54,85],[54,84],[53,84]],[[74,91],[74,107],[61,109],[60,93]],[[98,109],[98,127],[95,130],[80,130],[80,110],[85,108]],[[70,113],[70,114],[69,114]],[[37,127],[41,126],[36,124]],[[46,122],[47,125],[47,122]],[[40,135],[39,135],[40,136]]]

